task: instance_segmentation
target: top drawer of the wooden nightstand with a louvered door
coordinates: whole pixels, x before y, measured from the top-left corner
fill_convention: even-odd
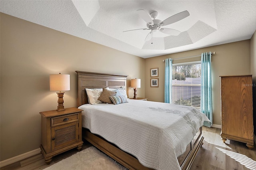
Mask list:
[[[51,118],[52,127],[62,125],[62,124],[65,124],[65,123],[71,123],[71,122],[74,122],[74,121],[78,121],[78,119],[79,119],[78,113],[75,113],[75,114],[72,114],[72,115],[64,115],[64,116],[60,116],[60,117],[53,117],[53,118]]]

